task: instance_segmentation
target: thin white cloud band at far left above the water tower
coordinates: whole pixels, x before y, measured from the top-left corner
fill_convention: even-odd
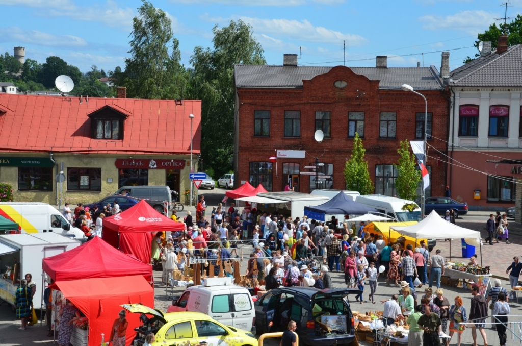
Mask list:
[[[39,44],[49,47],[82,47],[87,42],[77,36],[55,35],[38,30],[24,30],[18,27],[0,28],[0,40],[4,42]]]

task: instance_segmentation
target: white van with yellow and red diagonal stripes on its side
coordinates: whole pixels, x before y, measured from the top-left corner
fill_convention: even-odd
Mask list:
[[[85,237],[79,228],[65,220],[60,211],[47,203],[0,202],[0,215],[18,223],[22,233],[52,232],[74,235],[77,239]]]

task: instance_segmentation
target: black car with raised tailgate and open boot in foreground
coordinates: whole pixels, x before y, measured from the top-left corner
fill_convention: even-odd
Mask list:
[[[280,287],[255,303],[258,333],[280,332],[295,321],[299,343],[314,346],[348,344],[355,338],[354,320],[348,299],[357,289],[318,290],[314,287]],[[317,319],[321,317],[321,324]],[[325,330],[328,326],[331,331]]]

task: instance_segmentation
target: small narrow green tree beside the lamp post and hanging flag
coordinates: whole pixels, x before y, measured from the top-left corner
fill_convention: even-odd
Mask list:
[[[397,149],[399,154],[399,162],[394,165],[397,169],[397,178],[395,179],[395,189],[399,198],[413,201],[417,198],[417,186],[421,181],[421,172],[416,170],[417,159],[415,155],[410,154],[410,143],[408,140],[400,142]]]

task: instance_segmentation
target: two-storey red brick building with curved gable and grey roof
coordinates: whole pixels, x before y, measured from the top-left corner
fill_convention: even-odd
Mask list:
[[[446,72],[448,58],[443,54]],[[303,172],[311,172],[305,166],[319,158],[326,177],[318,179],[318,188],[345,190],[343,170],[358,132],[375,193],[395,195],[399,142],[424,137],[424,100],[403,91],[402,84],[428,100],[428,143],[447,153],[446,143],[431,138],[445,139],[448,133],[449,95],[435,66],[388,68],[386,56],[377,57],[376,67],[351,68],[297,66],[295,54],[284,60],[283,66],[235,66],[236,186],[249,181],[282,191],[291,182],[296,191],[310,192],[315,176]],[[318,129],[322,143],[314,140]],[[446,160],[434,150],[428,155],[432,182],[426,195],[443,195]],[[272,156],[278,156],[277,166],[270,163]]]

